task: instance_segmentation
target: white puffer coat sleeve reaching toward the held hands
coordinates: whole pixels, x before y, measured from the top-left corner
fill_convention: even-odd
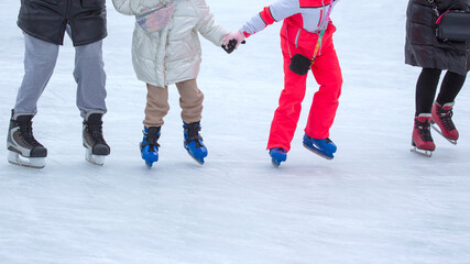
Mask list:
[[[199,15],[199,21],[196,25],[199,33],[215,45],[222,45],[222,37],[230,32],[216,22],[205,0],[195,0],[194,4]]]

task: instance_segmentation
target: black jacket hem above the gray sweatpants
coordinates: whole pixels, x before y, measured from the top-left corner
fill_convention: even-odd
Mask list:
[[[67,24],[74,46],[105,38],[106,0],[21,0],[18,26],[25,33],[62,45]]]

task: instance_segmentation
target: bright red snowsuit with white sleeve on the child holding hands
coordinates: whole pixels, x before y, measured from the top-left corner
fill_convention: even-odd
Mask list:
[[[281,30],[281,47],[284,56],[284,89],[271,124],[267,148],[291,150],[291,141],[300,116],[305,97],[307,75],[300,76],[288,66],[291,57],[302,54],[311,58],[321,26],[327,26],[321,46],[311,64],[311,73],[320,88],[314,95],[305,133],[314,139],[326,139],[338,109],[342,76],[332,43],[335,25],[327,18],[327,11],[335,0],[280,0],[249,21],[242,30],[247,37],[266,25],[284,19]],[[323,6],[323,4],[326,6]],[[283,18],[284,16],[284,18]],[[260,19],[264,23],[260,23]],[[308,22],[308,24],[307,24]]]

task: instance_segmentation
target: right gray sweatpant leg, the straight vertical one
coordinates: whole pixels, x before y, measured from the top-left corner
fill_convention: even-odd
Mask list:
[[[74,77],[77,81],[77,107],[80,116],[106,113],[106,73],[102,61],[102,41],[75,47]]]

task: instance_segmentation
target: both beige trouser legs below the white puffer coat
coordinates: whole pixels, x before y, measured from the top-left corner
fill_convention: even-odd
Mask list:
[[[204,94],[197,88],[196,79],[176,84],[179,92],[179,107],[185,123],[194,123],[203,118]],[[163,118],[168,113],[168,87],[146,85],[145,128],[161,127]]]

